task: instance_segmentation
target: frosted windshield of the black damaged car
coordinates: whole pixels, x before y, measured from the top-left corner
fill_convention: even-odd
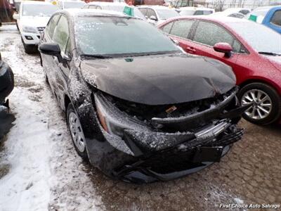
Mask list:
[[[181,52],[156,27],[136,18],[79,17],[75,30],[81,54],[138,56]]]

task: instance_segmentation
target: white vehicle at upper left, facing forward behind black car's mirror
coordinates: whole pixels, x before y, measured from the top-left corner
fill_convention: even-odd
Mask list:
[[[37,51],[40,32],[45,29],[48,20],[55,11],[58,11],[58,6],[49,2],[22,1],[19,13],[14,14],[13,18],[17,20],[26,53]]]

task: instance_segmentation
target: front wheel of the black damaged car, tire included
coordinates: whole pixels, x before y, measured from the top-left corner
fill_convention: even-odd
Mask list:
[[[81,158],[87,160],[88,155],[86,152],[86,139],[79,121],[79,117],[75,112],[72,103],[67,106],[67,126],[70,130],[70,135],[72,137],[75,150],[81,156]]]

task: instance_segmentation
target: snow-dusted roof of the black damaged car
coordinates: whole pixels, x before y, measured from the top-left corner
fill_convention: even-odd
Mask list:
[[[105,16],[105,17],[124,17],[124,18],[134,18],[124,13],[119,13],[116,11],[98,10],[98,9],[82,9],[82,8],[67,8],[65,10],[60,10],[58,13],[67,13],[69,16]]]

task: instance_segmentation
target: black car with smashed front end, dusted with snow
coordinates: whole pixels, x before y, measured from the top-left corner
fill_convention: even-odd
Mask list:
[[[242,137],[235,75],[183,53],[138,18],[55,13],[39,45],[77,153],[110,177],[169,180],[218,162]]]

